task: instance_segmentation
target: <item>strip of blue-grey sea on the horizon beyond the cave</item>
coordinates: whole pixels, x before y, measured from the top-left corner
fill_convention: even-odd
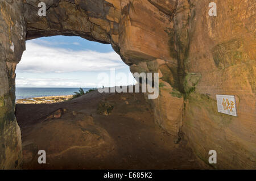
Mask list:
[[[80,88],[25,88],[16,87],[16,100],[36,98],[43,96],[56,96],[56,95],[73,95],[78,92]],[[92,88],[82,88],[85,92]]]

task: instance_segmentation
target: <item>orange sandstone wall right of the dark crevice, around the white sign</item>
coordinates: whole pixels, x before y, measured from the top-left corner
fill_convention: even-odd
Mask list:
[[[200,81],[185,102],[183,131],[206,162],[207,151],[217,151],[215,167],[255,169],[255,1],[214,2],[210,17],[208,1],[191,1],[185,71]],[[236,96],[237,117],[217,112],[216,94]]]

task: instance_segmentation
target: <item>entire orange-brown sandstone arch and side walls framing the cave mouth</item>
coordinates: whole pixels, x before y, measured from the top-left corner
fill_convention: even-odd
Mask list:
[[[111,43],[132,72],[158,72],[156,123],[205,162],[216,150],[216,168],[256,167],[253,0],[215,0],[217,16],[206,0],[42,0],[45,17],[39,2],[0,0],[1,169],[21,159],[14,70],[25,37],[53,35]],[[216,94],[236,95],[238,117],[217,112]]]

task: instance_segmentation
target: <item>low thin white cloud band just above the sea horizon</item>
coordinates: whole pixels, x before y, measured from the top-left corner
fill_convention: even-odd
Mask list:
[[[72,78],[16,78],[16,87],[97,87],[93,82]]]

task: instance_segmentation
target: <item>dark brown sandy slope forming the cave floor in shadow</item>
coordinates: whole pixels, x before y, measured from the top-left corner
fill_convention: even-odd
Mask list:
[[[93,91],[63,103],[17,104],[16,117],[23,169],[209,169],[185,140],[174,144],[154,123],[143,94]],[[47,164],[38,164],[38,150]]]

